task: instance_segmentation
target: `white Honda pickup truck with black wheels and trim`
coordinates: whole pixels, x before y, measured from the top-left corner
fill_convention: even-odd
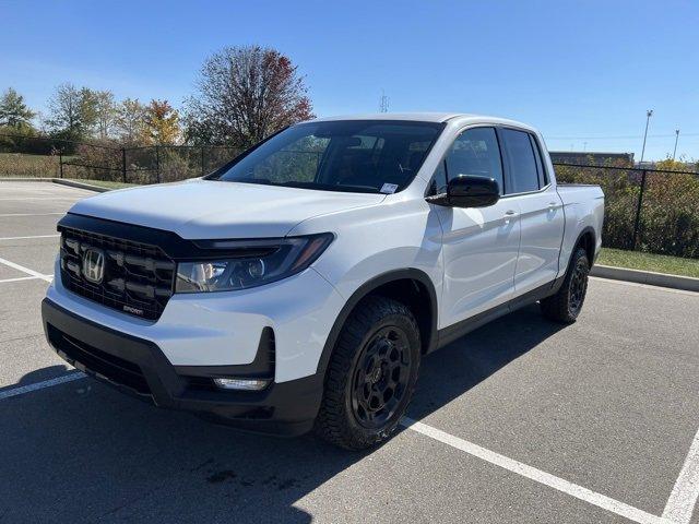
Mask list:
[[[604,195],[536,130],[459,114],[292,126],[217,171],[60,221],[51,346],[157,406],[242,429],[387,439],[424,355],[535,301],[580,313]]]

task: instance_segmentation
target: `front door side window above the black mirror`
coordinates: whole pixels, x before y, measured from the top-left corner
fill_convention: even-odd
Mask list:
[[[474,128],[461,133],[447,155],[449,180],[459,175],[494,178],[502,193],[502,162],[493,128]]]

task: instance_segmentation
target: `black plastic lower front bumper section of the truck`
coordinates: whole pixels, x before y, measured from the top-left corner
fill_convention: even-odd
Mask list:
[[[262,391],[218,390],[211,377],[259,377],[265,372],[264,358],[256,357],[250,365],[173,366],[155,343],[79,317],[48,298],[42,303],[42,317],[49,344],[63,359],[159,407],[192,412],[245,430],[284,436],[308,431],[318,413],[320,373],[285,382],[272,380]],[[262,338],[258,352],[265,350]],[[273,377],[272,372],[270,378]]]

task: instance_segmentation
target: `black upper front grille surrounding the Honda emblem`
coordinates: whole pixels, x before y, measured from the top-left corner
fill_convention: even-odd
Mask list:
[[[88,250],[104,254],[98,283],[85,277]],[[95,275],[93,276],[93,279]],[[64,227],[61,233],[61,278],[71,291],[134,317],[157,320],[170,296],[175,262],[156,246]]]

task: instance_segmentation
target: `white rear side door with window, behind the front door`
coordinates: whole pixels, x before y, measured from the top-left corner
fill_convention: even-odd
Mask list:
[[[511,128],[500,128],[498,133],[507,165],[502,200],[517,202],[520,211],[521,241],[514,272],[514,295],[520,296],[556,278],[564,211],[536,135]]]

